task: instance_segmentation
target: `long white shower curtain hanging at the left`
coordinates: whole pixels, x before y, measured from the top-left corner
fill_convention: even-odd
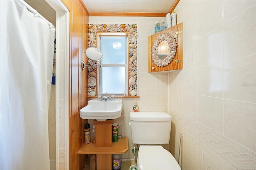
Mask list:
[[[48,96],[55,28],[0,0],[0,170],[49,170]]]

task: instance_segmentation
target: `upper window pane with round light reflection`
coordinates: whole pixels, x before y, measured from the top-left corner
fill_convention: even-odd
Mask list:
[[[102,39],[102,63],[103,64],[125,64],[126,63],[126,41],[124,36],[101,36]]]

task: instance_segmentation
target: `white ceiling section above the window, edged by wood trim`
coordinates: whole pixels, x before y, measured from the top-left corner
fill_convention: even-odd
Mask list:
[[[89,12],[168,13],[176,0],[83,0]]]

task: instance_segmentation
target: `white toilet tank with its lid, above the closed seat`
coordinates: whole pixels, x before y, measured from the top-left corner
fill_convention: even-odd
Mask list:
[[[168,144],[172,117],[165,112],[130,112],[134,144]]]

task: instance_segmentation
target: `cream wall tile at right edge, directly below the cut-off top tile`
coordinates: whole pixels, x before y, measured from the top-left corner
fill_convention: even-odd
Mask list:
[[[224,60],[256,53],[256,6],[236,15],[223,25]]]

